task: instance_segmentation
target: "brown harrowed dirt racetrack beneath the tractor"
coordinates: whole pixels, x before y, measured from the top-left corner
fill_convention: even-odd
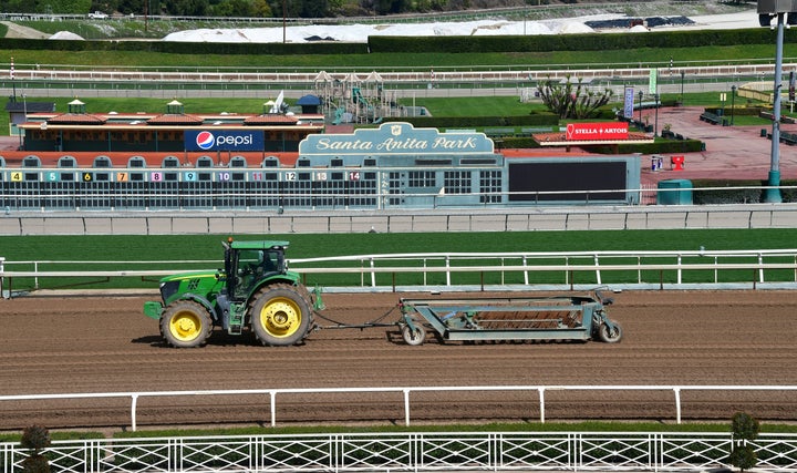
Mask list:
[[[407,295],[327,295],[346,323],[389,312]],[[439,297],[408,295],[412,297]],[[460,295],[444,295],[459,297]],[[531,295],[534,296],[534,295]],[[797,385],[797,291],[615,294],[620,343],[404,345],[393,328],[323,329],[304,346],[266,348],[216,332],[207,347],[172,349],[142,315],[146,297],[0,300],[0,394],[417,385]],[[398,320],[398,310],[385,321]],[[320,321],[321,323],[328,323]],[[683,391],[684,421],[797,420],[797,391]],[[130,425],[131,399],[0,402],[0,430]],[[412,394],[413,422],[536,421],[537,391]],[[267,395],[142,398],[139,426],[268,424]],[[278,398],[278,424],[403,423],[401,393]],[[662,391],[546,391],[548,421],[675,420]]]

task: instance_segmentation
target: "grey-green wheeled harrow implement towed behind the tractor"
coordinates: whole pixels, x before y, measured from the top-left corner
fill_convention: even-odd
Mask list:
[[[443,340],[593,340],[609,343],[622,329],[607,316],[612,302],[588,296],[541,298],[401,299],[402,337],[421,345],[427,330]]]

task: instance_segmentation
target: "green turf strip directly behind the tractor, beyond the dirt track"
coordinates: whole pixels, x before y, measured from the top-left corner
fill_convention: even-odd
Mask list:
[[[40,270],[184,270],[215,269],[221,267],[222,235],[176,235],[176,236],[25,236],[0,237],[0,256],[6,257],[7,270],[31,270],[32,265],[14,265],[13,261],[74,261],[70,264],[42,263]],[[797,229],[690,229],[690,230],[601,230],[601,232],[517,232],[517,233],[468,233],[452,235],[432,234],[354,234],[354,235],[269,235],[263,239],[287,239],[291,241],[288,257],[292,259],[400,253],[510,253],[510,251],[601,251],[601,250],[707,250],[723,249],[785,249],[791,248]],[[239,239],[260,239],[258,236],[241,236]],[[755,263],[752,258],[746,263]],[[204,260],[189,265],[180,260]],[[84,261],[121,261],[87,265]],[[136,263],[157,261],[157,263]],[[577,261],[571,261],[577,263]],[[591,264],[584,258],[583,264]],[[609,259],[604,264],[619,263]],[[643,263],[645,263],[643,260]],[[661,263],[661,261],[659,261]],[[684,260],[684,263],[690,263]],[[788,261],[785,261],[788,263]],[[420,263],[406,263],[417,264]],[[519,264],[519,263],[514,263]],[[428,267],[443,265],[439,260],[426,261]],[[325,264],[322,267],[332,267]],[[619,284],[633,280],[635,273],[611,273],[603,275],[603,284]],[[675,271],[659,275],[643,271],[643,280],[656,282],[660,277],[670,282]],[[720,281],[751,281],[753,271],[727,271]],[[473,285],[499,284],[501,275],[488,274],[456,275],[454,284]],[[505,274],[507,284],[520,284],[519,275]],[[531,274],[530,284],[562,282],[562,276],[545,271]],[[577,284],[597,284],[594,271],[573,275]],[[421,275],[397,275],[398,285],[420,285]],[[713,271],[689,271],[684,282],[711,281]],[[341,276],[330,274],[308,275],[310,286],[359,285],[359,275]],[[391,285],[392,275],[379,275],[377,284]],[[767,274],[767,280],[794,280],[788,270]],[[112,278],[110,281],[66,280],[65,278],[42,278],[41,288],[59,288],[81,285],[85,288],[156,288],[155,278]],[[427,284],[444,284],[443,274],[429,274]],[[14,289],[31,288],[32,280],[17,278]]]

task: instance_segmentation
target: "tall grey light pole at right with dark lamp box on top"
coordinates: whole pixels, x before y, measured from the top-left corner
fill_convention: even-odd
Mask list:
[[[764,202],[778,204],[780,197],[780,84],[783,82],[783,37],[784,23],[797,23],[797,0],[758,0],[758,22],[768,27],[772,19],[777,20],[775,41],[775,85],[773,88],[773,133],[769,165],[769,179],[764,193]]]

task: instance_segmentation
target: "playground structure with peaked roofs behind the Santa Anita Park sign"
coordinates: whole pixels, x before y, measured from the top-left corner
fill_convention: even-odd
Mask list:
[[[365,79],[354,73],[334,78],[321,71],[313,82],[321,100],[321,113],[334,125],[341,123],[381,123],[386,117],[407,116],[408,111],[396,102],[396,91],[384,89],[376,72]]]

